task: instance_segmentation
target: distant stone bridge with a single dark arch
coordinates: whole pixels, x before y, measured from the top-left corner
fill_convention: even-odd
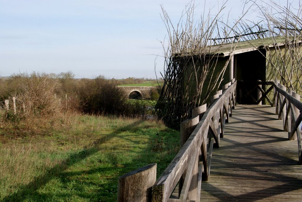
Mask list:
[[[150,91],[155,86],[118,86],[125,92],[125,96],[130,99],[146,99],[150,97]]]

